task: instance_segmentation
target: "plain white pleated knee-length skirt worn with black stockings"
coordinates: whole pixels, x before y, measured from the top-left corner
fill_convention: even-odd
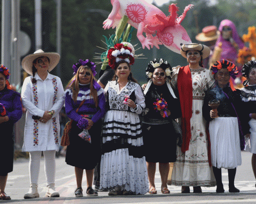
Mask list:
[[[209,125],[212,166],[236,168],[242,164],[237,117],[217,117]]]

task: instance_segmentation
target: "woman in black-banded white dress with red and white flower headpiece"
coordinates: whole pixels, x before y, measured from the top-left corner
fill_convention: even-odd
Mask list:
[[[109,196],[145,194],[149,190],[138,115],[145,108],[145,97],[132,78],[132,49],[123,44],[108,52],[115,75],[105,88],[109,107],[102,128],[100,189],[108,190]]]

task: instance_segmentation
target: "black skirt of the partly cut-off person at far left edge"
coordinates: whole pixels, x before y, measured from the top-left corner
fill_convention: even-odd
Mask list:
[[[13,152],[14,152],[14,140],[13,140],[13,125],[1,123],[0,124],[0,155],[2,155],[3,162],[0,167],[0,176],[5,176],[7,173],[13,171]]]

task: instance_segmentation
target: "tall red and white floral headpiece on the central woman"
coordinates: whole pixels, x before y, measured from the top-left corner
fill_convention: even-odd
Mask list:
[[[134,55],[130,47],[118,43],[114,45],[114,48],[108,50],[108,64],[112,69],[115,69],[116,64],[122,60],[132,65],[134,64]]]

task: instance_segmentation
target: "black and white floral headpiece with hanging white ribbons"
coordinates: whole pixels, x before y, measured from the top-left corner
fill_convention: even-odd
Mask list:
[[[171,78],[172,67],[167,61],[164,62],[164,59],[161,58],[154,59],[153,61],[150,61],[150,63],[148,64],[146,68],[146,75],[148,80],[151,79],[157,67],[161,67],[165,71],[166,77],[169,79]]]

